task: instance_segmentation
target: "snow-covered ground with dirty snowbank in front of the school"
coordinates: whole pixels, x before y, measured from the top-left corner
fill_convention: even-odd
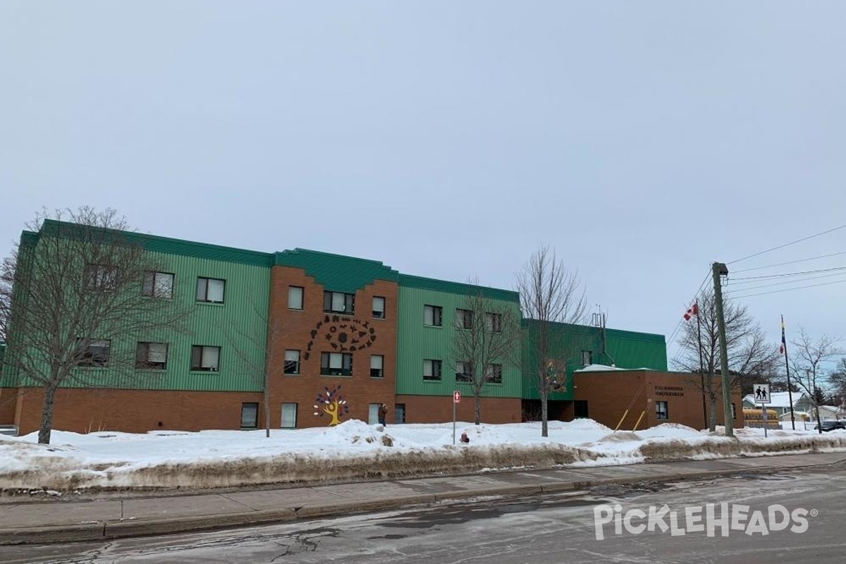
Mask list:
[[[458,441],[466,431],[470,443]],[[540,423],[369,425],[146,434],[53,431],[51,445],[37,434],[0,436],[0,490],[205,488],[308,483],[357,477],[492,471],[503,468],[641,463],[650,459],[766,456],[783,452],[846,451],[846,431],[737,430],[735,441],[662,424],[613,431],[591,419]]]

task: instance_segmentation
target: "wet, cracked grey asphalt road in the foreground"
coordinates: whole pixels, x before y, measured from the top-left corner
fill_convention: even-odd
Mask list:
[[[0,546],[0,562],[841,564],[846,561],[844,470],[846,466],[838,465],[806,474],[611,486],[563,496],[474,500],[419,510],[121,539],[106,544]],[[721,516],[721,503],[729,504],[729,513],[737,512],[736,526],[727,519],[728,536],[722,536],[716,519],[709,521],[708,510],[703,508],[708,503],[717,504],[714,517]],[[675,527],[669,513],[661,513],[664,505],[668,512],[676,512]],[[648,525],[650,519],[637,512],[629,513],[629,528],[634,532],[627,530],[623,517],[631,510],[648,516],[650,507],[657,512],[654,530],[640,532],[639,526]],[[609,522],[600,525],[602,539],[597,539],[597,512]],[[620,534],[615,532],[617,514]],[[714,536],[708,536],[706,530],[695,530],[706,523],[714,525]],[[775,530],[782,524],[785,528]],[[666,532],[662,525],[667,527]],[[680,534],[683,528],[684,534]]]

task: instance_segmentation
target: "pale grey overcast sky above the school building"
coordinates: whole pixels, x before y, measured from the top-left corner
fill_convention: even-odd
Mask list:
[[[711,262],[846,223],[844,26],[821,0],[3,2],[0,254],[84,204],[495,287],[550,244],[609,326],[670,337]],[[844,288],[741,301],[775,346],[780,314],[846,337]]]

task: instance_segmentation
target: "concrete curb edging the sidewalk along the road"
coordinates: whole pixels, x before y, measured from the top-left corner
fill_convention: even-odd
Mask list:
[[[825,466],[809,464],[808,466]],[[83,523],[79,525],[58,525],[35,528],[2,528],[0,545],[46,545],[66,542],[100,541],[173,533],[211,531],[222,528],[251,527],[273,523],[290,523],[299,520],[322,517],[339,517],[356,513],[387,511],[414,506],[431,506],[445,501],[467,500],[475,497],[520,497],[540,496],[567,491],[590,490],[599,485],[632,484],[636,482],[682,482],[696,479],[716,478],[733,474],[766,474],[784,469],[806,468],[726,468],[702,470],[686,474],[656,474],[625,476],[607,479],[589,479],[574,482],[552,482],[543,485],[513,485],[501,488],[453,491],[440,494],[394,497],[384,500],[352,501],[319,507],[297,507],[253,512],[237,512],[222,515],[194,517],[168,517],[155,521],[116,521]]]

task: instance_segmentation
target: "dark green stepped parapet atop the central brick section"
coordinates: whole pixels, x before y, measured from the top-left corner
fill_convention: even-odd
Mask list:
[[[355,293],[375,280],[397,282],[399,273],[378,260],[332,255],[309,249],[276,253],[274,264],[301,268],[327,290]]]

